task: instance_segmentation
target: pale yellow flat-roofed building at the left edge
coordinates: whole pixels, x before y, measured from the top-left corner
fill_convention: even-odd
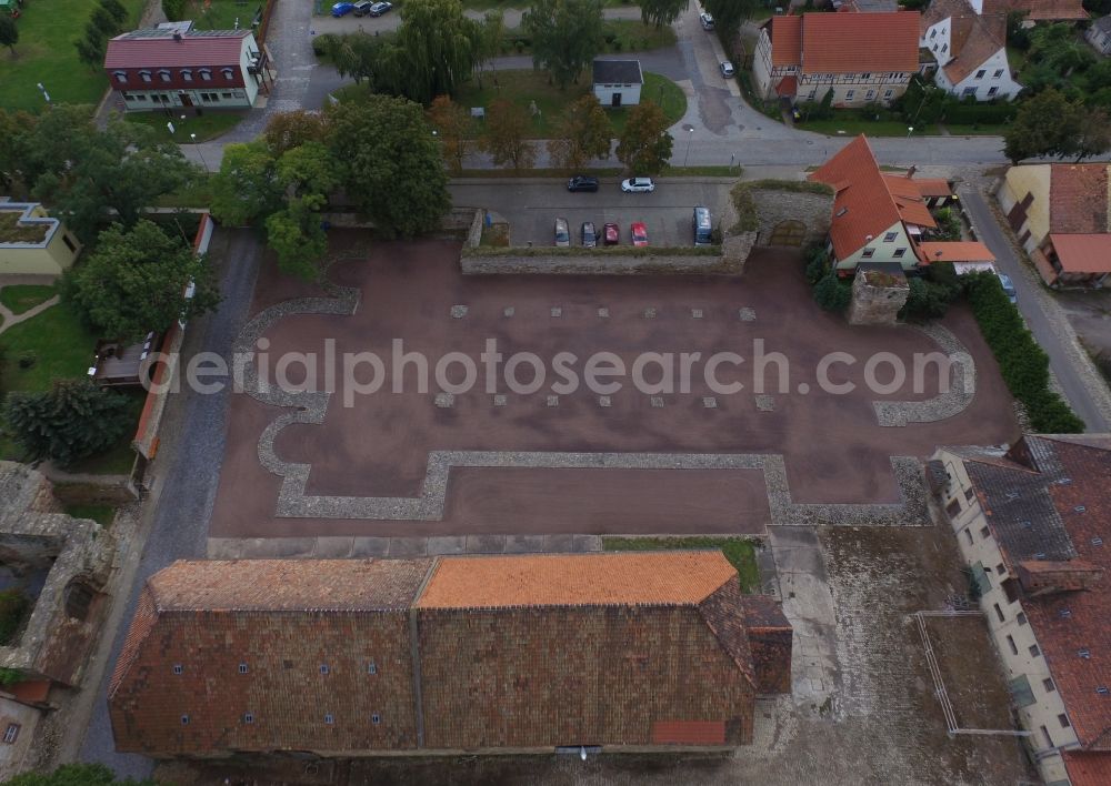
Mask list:
[[[37,202],[0,199],[0,275],[61,275],[81,244]]]

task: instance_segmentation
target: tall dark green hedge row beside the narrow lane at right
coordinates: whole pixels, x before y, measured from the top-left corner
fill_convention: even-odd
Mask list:
[[[965,276],[969,303],[980,332],[999,362],[1003,381],[1041,434],[1079,434],[1084,422],[1049,387],[1049,356],[1022,322],[992,273]]]

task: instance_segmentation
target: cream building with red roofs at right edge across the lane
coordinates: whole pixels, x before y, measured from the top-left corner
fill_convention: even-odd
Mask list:
[[[1011,167],[995,195],[1047,284],[1108,284],[1111,165]]]

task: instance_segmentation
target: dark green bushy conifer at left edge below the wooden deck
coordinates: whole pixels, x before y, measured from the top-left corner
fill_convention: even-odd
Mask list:
[[[128,400],[88,379],[56,380],[49,391],[9,393],[3,421],[28,461],[60,466],[114,446],[133,425]]]

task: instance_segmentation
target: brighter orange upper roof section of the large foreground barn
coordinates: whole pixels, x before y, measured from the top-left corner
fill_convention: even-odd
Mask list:
[[[693,605],[737,571],[721,552],[441,557],[419,608]]]

